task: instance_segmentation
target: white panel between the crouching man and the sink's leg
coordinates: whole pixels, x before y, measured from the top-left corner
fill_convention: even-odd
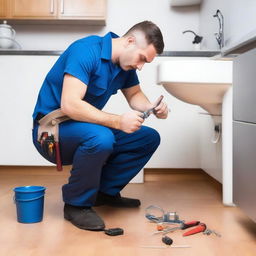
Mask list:
[[[176,99],[156,82],[157,65],[171,59],[175,58],[157,57],[137,72],[142,90],[147,97],[154,102],[160,95],[164,95],[163,100],[171,110],[167,119],[157,119],[152,115],[143,123],[155,128],[161,136],[161,144],[146,167],[200,168],[199,107]],[[124,96],[118,93],[110,98],[104,110],[122,114],[130,111],[130,108]]]

